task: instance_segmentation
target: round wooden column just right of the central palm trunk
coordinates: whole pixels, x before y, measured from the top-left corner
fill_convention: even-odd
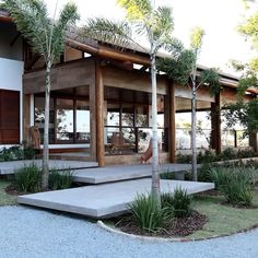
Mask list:
[[[168,85],[169,94],[169,160],[172,163],[176,162],[176,97],[175,97],[175,85],[169,82]]]

